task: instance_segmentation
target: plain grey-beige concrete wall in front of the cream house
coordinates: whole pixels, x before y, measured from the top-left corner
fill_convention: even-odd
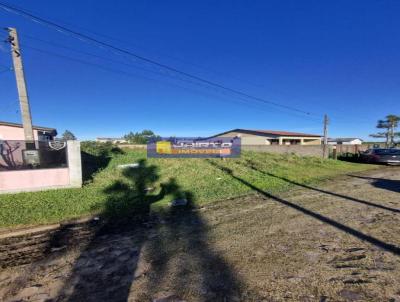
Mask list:
[[[281,154],[294,153],[300,156],[323,156],[322,145],[242,145],[242,150]]]

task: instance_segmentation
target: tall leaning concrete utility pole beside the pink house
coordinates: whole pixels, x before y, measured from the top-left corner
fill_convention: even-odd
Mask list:
[[[24,69],[22,65],[21,50],[18,42],[18,34],[15,28],[7,28],[9,36],[8,42],[11,45],[11,53],[14,64],[15,79],[17,81],[19,104],[21,107],[22,125],[24,127],[26,148],[35,149],[35,138],[33,136],[31,108],[29,106],[28,93],[26,91],[26,83]]]

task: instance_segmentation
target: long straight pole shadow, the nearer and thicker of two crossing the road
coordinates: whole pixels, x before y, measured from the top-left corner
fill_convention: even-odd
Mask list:
[[[368,243],[370,243],[372,245],[375,245],[375,246],[377,246],[377,247],[379,247],[381,249],[384,249],[384,250],[386,250],[388,252],[391,252],[391,253],[393,253],[395,255],[398,255],[398,256],[400,255],[400,247],[398,247],[396,245],[384,242],[384,241],[382,241],[382,240],[380,240],[378,238],[375,238],[373,236],[370,236],[368,234],[364,234],[364,233],[362,233],[362,232],[360,232],[360,231],[358,231],[356,229],[353,229],[353,228],[351,228],[349,226],[346,226],[346,225],[344,225],[344,224],[342,224],[342,223],[340,223],[338,221],[335,221],[335,220],[333,220],[333,219],[331,219],[329,217],[326,217],[326,216],[321,215],[321,214],[319,214],[317,212],[314,212],[314,211],[311,211],[311,210],[309,210],[307,208],[304,208],[301,205],[298,205],[298,204],[296,204],[294,202],[285,200],[285,199],[283,199],[281,197],[278,197],[278,196],[274,196],[271,193],[268,193],[268,192],[256,187],[255,185],[251,184],[250,182],[240,178],[239,176],[234,175],[234,173],[233,173],[233,171],[231,169],[229,169],[227,167],[224,167],[223,165],[220,165],[215,161],[208,160],[208,162],[210,163],[210,165],[220,169],[221,171],[223,171],[226,174],[230,175],[233,179],[241,182],[242,184],[246,185],[250,189],[254,190],[255,192],[258,192],[259,194],[261,194],[262,196],[264,196],[266,198],[269,198],[271,200],[279,202],[280,204],[283,204],[283,205],[285,205],[285,206],[287,206],[289,208],[292,208],[292,209],[294,209],[296,211],[299,211],[299,212],[301,212],[301,213],[303,213],[303,214],[305,214],[307,216],[310,216],[310,217],[312,217],[314,219],[317,219],[317,220],[319,220],[321,222],[329,224],[329,225],[333,226],[334,228],[336,228],[336,229],[338,229],[340,231],[343,231],[343,232],[345,232],[347,234],[350,234],[350,235],[352,235],[352,236],[354,236],[354,237],[356,237],[356,238],[358,238],[358,239],[360,239],[362,241],[366,241],[366,242],[368,242]],[[251,168],[251,165],[250,165],[250,168]],[[262,171],[260,171],[260,172],[262,172]],[[262,173],[265,173],[265,172],[262,172]]]

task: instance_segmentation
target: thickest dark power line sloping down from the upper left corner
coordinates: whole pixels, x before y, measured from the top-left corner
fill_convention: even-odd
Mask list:
[[[103,42],[103,41],[98,40],[96,38],[93,38],[93,37],[91,37],[89,35],[86,35],[84,33],[72,30],[70,28],[67,28],[65,26],[59,25],[59,24],[57,24],[55,22],[52,22],[50,20],[46,20],[46,19],[44,19],[42,17],[38,17],[38,16],[33,15],[33,14],[23,10],[23,9],[19,9],[19,8],[13,7],[13,6],[9,5],[9,4],[0,2],[0,8],[3,8],[4,10],[6,10],[8,12],[15,13],[15,14],[23,16],[25,18],[29,18],[30,20],[32,20],[34,22],[37,22],[37,23],[40,23],[40,24],[43,24],[43,25],[47,25],[47,26],[49,26],[51,28],[56,29],[59,32],[64,33],[64,34],[67,34],[67,35],[70,35],[70,36],[72,35],[73,37],[78,38],[81,41],[92,43],[92,44],[94,43],[100,48],[112,49],[112,50],[114,50],[114,51],[116,51],[116,52],[118,52],[120,54],[129,55],[129,56],[134,57],[136,59],[139,59],[139,60],[141,60],[143,62],[150,63],[152,65],[155,65],[155,66],[161,67],[163,69],[172,71],[174,73],[186,76],[186,77],[194,79],[196,81],[208,84],[210,86],[217,87],[217,88],[220,88],[220,89],[224,89],[224,90],[229,91],[231,93],[235,93],[237,95],[244,96],[244,97],[246,97],[248,99],[252,99],[252,100],[260,102],[260,103],[264,103],[264,104],[269,104],[269,105],[273,105],[273,106],[276,106],[276,107],[285,108],[287,110],[298,112],[298,113],[302,113],[302,114],[305,114],[307,116],[311,115],[311,113],[308,112],[308,111],[304,111],[304,110],[298,109],[298,108],[293,107],[293,106],[287,106],[287,105],[283,105],[283,104],[276,103],[276,102],[273,102],[273,101],[265,100],[263,98],[260,98],[260,97],[257,97],[257,96],[253,96],[253,95],[251,95],[249,93],[246,93],[246,92],[243,92],[241,90],[233,89],[233,88],[224,86],[222,84],[210,81],[208,79],[199,77],[197,75],[190,74],[190,73],[188,73],[186,71],[179,70],[179,69],[177,69],[175,67],[172,67],[172,66],[157,62],[157,61],[149,59],[147,57],[138,55],[138,54],[136,54],[136,53],[134,53],[132,51],[129,51],[129,50],[126,50],[126,49],[111,45],[111,44],[109,44],[107,42]]]

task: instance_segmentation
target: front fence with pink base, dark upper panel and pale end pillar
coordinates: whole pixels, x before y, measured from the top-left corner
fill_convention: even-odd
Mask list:
[[[81,185],[78,141],[0,141],[0,193]]]

